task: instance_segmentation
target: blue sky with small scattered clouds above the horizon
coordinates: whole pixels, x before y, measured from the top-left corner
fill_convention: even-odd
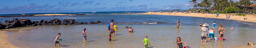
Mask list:
[[[188,10],[194,6],[189,1],[191,0],[2,0],[0,14]]]

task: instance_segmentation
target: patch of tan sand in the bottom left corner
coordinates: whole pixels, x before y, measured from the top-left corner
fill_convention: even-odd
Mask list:
[[[17,46],[12,45],[12,43],[9,42],[8,34],[5,34],[6,31],[0,31],[0,48],[20,48]]]

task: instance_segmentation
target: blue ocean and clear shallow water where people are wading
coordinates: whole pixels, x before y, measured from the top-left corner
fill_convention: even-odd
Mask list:
[[[113,13],[113,12],[110,12]],[[37,16],[37,17],[13,17],[13,18],[29,18],[31,21],[53,20],[53,16]],[[14,40],[12,44],[19,47],[28,48],[143,48],[142,45],[145,35],[148,36],[150,48],[176,48],[177,37],[181,37],[181,41],[192,48],[216,48],[216,47],[240,47],[247,46],[247,43],[255,43],[256,24],[254,22],[244,22],[237,20],[223,20],[208,18],[205,20],[201,17],[185,17],[170,15],[113,15],[109,13],[95,13],[94,15],[79,16],[55,16],[60,20],[75,19],[77,22],[101,21],[108,23],[114,20],[118,26],[116,35],[112,36],[112,41],[108,41],[108,24],[88,24],[88,25],[57,25],[57,26],[33,26],[20,27],[18,32],[7,32],[12,34]],[[176,23],[180,19],[181,28],[176,28]],[[12,20],[12,18],[4,18],[0,21]],[[201,32],[199,24],[208,23],[212,29],[213,21],[216,21],[216,27],[220,28],[222,23],[226,28],[224,37],[226,40],[210,40],[201,43]],[[134,32],[129,33],[128,28],[134,28]],[[87,42],[83,42],[82,31],[86,28]],[[214,37],[218,38],[218,29],[214,29]],[[231,28],[235,28],[231,30]],[[53,46],[54,39],[61,33],[61,46]],[[12,42],[12,41],[11,41]],[[182,43],[183,44],[183,43]],[[58,44],[57,44],[58,45]],[[183,44],[183,46],[185,46]]]

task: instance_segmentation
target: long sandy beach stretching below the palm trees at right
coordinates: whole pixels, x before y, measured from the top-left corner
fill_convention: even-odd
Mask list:
[[[141,13],[141,14],[151,14],[151,13]],[[169,15],[169,13],[160,13],[160,12],[153,12],[152,14],[156,15]],[[175,16],[189,16],[189,17],[205,17],[206,18],[217,18],[215,14],[201,14],[201,13],[175,13],[172,12],[170,15],[175,15]],[[233,15],[233,14],[232,14]],[[219,14],[218,16],[219,19],[226,19],[226,14]],[[247,18],[247,20],[244,20],[244,18]],[[205,18],[203,18],[204,20]],[[249,21],[249,22],[256,22],[256,16],[253,15],[246,15],[246,16],[230,16],[231,20],[240,20],[240,21]]]

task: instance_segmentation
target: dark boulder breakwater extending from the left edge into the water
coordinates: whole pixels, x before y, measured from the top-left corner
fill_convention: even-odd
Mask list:
[[[100,21],[97,22],[90,22],[89,24],[99,24]],[[31,21],[29,19],[17,19],[14,18],[13,20],[5,20],[4,23],[0,21],[0,29],[9,29],[9,28],[15,28],[15,27],[26,27],[26,26],[44,26],[44,25],[83,25],[88,24],[86,22],[76,22],[75,19],[54,19],[54,20],[40,20],[40,21]],[[105,23],[102,23],[105,24]]]

